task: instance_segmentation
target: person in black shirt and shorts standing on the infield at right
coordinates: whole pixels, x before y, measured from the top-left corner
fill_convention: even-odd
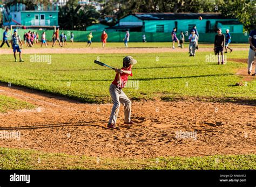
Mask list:
[[[214,52],[215,52],[215,55],[218,55],[218,64],[220,64],[219,53],[221,53],[221,64],[224,64],[223,48],[225,45],[225,35],[221,33],[220,28],[217,29],[217,33],[218,34],[215,35],[215,39],[214,39]]]

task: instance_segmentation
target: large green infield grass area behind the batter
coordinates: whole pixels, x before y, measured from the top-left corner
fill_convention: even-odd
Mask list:
[[[138,60],[133,68],[130,83],[138,89],[125,88],[132,99],[153,99],[160,97],[170,100],[178,97],[240,98],[256,99],[256,82],[246,87],[235,87],[241,77],[235,75],[245,63],[230,59],[246,59],[246,51],[227,54],[227,64],[218,66],[208,62],[215,57],[210,52],[198,52],[196,57],[183,53],[150,54],[44,54],[50,55],[47,62],[30,62],[30,54],[23,55],[24,63],[14,62],[12,55],[1,55],[0,81],[15,85],[57,93],[83,100],[87,103],[110,102],[109,85],[115,73],[98,66],[93,60],[99,58],[113,67],[122,67],[125,55]],[[130,84],[131,85],[131,84]]]

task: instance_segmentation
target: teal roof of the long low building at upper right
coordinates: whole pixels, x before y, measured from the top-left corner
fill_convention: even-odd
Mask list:
[[[176,19],[225,19],[221,13],[132,13],[141,20],[176,20]]]

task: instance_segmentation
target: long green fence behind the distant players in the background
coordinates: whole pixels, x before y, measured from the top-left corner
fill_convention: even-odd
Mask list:
[[[18,30],[18,34],[21,36],[23,40],[23,35],[25,32],[28,32],[29,30]],[[41,34],[43,31],[39,30],[30,30],[35,31],[39,34],[39,39],[41,39]],[[3,39],[3,32],[4,30],[0,29],[0,40]],[[59,33],[61,33],[60,31]],[[87,35],[89,34],[89,31],[63,31],[68,41],[70,40],[71,32],[75,35],[74,41],[80,41],[85,42],[87,41]],[[46,30],[46,39],[48,41],[51,41],[51,37],[53,34],[53,30]],[[142,42],[142,35],[143,32],[130,32],[130,42]],[[9,35],[11,35],[9,31]],[[100,37],[102,35],[102,32],[93,32],[92,33],[93,38],[92,41],[94,42],[100,42]],[[125,32],[107,32],[108,38],[107,42],[123,42],[123,38],[125,35]],[[146,32],[146,41],[147,42],[170,42],[171,41],[171,33],[153,33],[153,32]],[[199,33],[199,42],[213,42],[214,41],[215,33]],[[177,34],[177,37],[179,39],[179,33]],[[11,39],[11,37],[9,37]],[[188,41],[188,35],[185,35],[185,41]],[[233,43],[245,43],[248,42],[248,33],[231,33],[231,41]]]

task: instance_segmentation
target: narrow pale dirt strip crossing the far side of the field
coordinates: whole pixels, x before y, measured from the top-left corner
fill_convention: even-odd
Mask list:
[[[238,48],[239,51],[248,51],[248,48]],[[48,48],[24,48],[23,54],[79,54],[79,53],[163,53],[163,52],[188,52],[187,48],[175,48],[171,47],[129,47],[129,48],[60,48],[60,47],[48,47]],[[213,48],[200,48],[198,52],[213,52]],[[12,54],[10,49],[1,49],[0,54]]]

